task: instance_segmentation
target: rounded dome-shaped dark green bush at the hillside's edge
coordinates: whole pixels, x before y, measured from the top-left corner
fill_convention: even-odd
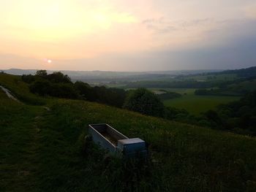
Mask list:
[[[138,88],[130,91],[124,102],[124,108],[145,115],[161,117],[164,114],[164,105],[162,101],[146,88]]]

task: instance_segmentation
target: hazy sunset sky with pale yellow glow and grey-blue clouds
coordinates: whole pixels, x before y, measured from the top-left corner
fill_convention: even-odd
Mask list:
[[[256,0],[0,0],[0,69],[256,66]]]

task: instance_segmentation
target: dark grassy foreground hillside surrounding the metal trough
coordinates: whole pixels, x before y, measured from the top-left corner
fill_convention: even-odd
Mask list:
[[[19,77],[8,78],[0,74],[0,83],[16,96],[38,98],[16,87]],[[50,111],[16,103],[0,91],[0,191],[256,189],[255,138],[86,101],[42,100]],[[95,146],[85,153],[89,123],[109,123],[127,137],[145,139],[150,161],[144,166],[106,161]]]

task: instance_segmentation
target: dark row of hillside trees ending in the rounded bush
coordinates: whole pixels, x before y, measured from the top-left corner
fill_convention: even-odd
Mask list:
[[[165,117],[164,104],[156,94],[146,88],[124,91],[124,89],[106,88],[105,86],[93,87],[86,82],[72,82],[67,75],[61,72],[48,74],[46,70],[39,70],[35,75],[23,74],[22,80],[29,83],[32,93],[39,96],[97,101],[144,115]]]

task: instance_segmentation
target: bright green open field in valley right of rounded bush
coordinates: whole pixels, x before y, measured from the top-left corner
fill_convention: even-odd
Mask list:
[[[167,107],[176,107],[187,110],[193,115],[199,115],[200,112],[214,110],[219,104],[227,104],[239,98],[238,96],[197,96],[188,94],[180,98],[165,100],[164,104]]]

